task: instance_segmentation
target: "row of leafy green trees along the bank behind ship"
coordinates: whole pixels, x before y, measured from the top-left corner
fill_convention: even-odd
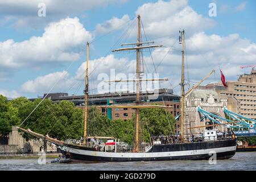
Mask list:
[[[11,126],[22,123],[41,101],[30,101],[25,97],[7,101],[6,97],[0,96],[0,136],[8,135]],[[96,106],[91,106],[88,111],[88,135],[115,137],[132,144],[134,120],[134,115],[133,119],[127,121],[110,120]],[[166,115],[164,109],[141,109],[142,139],[150,142],[151,135],[170,135],[174,130],[174,122],[174,117],[171,114]],[[59,140],[80,139],[84,131],[83,110],[74,107],[69,101],[53,104],[46,99],[26,119],[22,127]],[[32,138],[28,134],[23,137]]]

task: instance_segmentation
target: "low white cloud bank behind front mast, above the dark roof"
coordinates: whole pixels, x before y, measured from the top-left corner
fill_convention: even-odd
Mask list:
[[[97,92],[97,84],[102,81],[97,80],[98,75],[105,73],[106,75],[109,75],[110,78],[110,69],[115,69],[115,76],[124,71],[126,75],[133,73],[134,63],[135,60],[129,60],[127,58],[118,59],[114,57],[114,55],[90,60],[89,89],[94,90],[93,93]],[[43,94],[49,92],[52,86],[60,80],[51,92],[76,92],[82,84],[81,81],[85,78],[85,68],[86,64],[82,63],[77,69],[75,76],[71,76],[67,71],[63,71],[36,77],[34,80],[24,82],[20,90],[23,93]],[[112,80],[114,80],[114,78],[112,78]]]

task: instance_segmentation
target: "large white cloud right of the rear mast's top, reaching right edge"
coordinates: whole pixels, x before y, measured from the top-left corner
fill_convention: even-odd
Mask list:
[[[187,41],[187,49],[193,55],[208,54],[211,64],[251,64],[256,59],[255,43],[240,38],[238,34],[221,37],[200,32]]]

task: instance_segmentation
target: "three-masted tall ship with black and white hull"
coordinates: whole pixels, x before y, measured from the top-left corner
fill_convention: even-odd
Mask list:
[[[141,17],[138,15],[138,39],[136,43],[122,44],[122,46],[134,46],[114,49],[118,51],[136,51],[136,78],[131,80],[136,85],[136,100],[132,105],[111,105],[111,108],[133,108],[135,109],[135,131],[134,144],[127,148],[124,143],[117,138],[108,136],[88,136],[88,100],[89,100],[89,43],[87,43],[87,59],[86,59],[86,76],[84,90],[84,135],[82,142],[71,143],[53,139],[49,136],[44,136],[35,133],[29,129],[20,130],[30,133],[35,137],[43,138],[48,142],[55,144],[66,158],[77,160],[91,160],[98,162],[133,162],[133,161],[158,161],[158,160],[207,160],[213,153],[216,154],[216,159],[229,159],[236,154],[236,138],[217,138],[216,130],[204,131],[202,140],[193,142],[184,137],[184,114],[185,114],[185,97],[189,95],[198,85],[201,84],[212,73],[209,73],[203,80],[193,86],[185,93],[184,85],[184,30],[180,31],[180,43],[182,44],[182,67],[181,67],[181,113],[180,113],[180,133],[177,142],[161,143],[160,141],[152,141],[151,143],[142,143],[140,130],[140,109],[141,108],[164,108],[162,105],[143,105],[140,101],[142,81],[160,81],[164,79],[147,79],[141,78],[141,53],[142,49],[161,47],[154,45],[154,42],[142,42],[141,40]],[[152,43],[149,45],[149,43]],[[129,80],[125,80],[129,81]],[[200,126],[201,127],[201,126]],[[206,126],[205,126],[206,128]],[[174,137],[174,136],[173,136]],[[176,137],[177,138],[177,137]]]

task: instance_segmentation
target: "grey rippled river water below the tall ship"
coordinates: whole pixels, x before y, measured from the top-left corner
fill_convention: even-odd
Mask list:
[[[38,159],[0,159],[0,170],[256,170],[256,152],[237,152],[233,158],[217,160],[209,164],[208,160],[173,160],[164,162],[125,162],[91,163],[75,161],[67,164],[38,163]]]

